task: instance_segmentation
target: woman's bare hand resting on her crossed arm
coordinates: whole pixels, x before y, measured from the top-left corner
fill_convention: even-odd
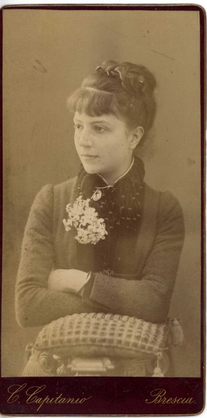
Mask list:
[[[48,278],[48,289],[56,290],[57,292],[78,293],[87,283],[87,276],[88,273],[81,270],[52,270]]]

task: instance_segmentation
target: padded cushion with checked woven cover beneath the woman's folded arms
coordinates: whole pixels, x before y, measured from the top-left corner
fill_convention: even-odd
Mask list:
[[[156,324],[104,313],[73,314],[45,326],[34,349],[61,357],[143,358],[163,351],[167,333],[167,322]]]

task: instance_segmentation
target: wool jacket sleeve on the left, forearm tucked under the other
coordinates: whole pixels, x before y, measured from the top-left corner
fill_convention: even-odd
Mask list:
[[[20,326],[41,326],[74,312],[94,309],[82,303],[79,295],[47,289],[54,263],[53,185],[37,194],[24,231],[21,260],[15,289],[16,317]]]

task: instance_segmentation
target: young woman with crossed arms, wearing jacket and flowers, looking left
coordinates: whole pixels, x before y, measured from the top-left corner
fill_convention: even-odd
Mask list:
[[[31,208],[16,284],[20,326],[81,312],[167,318],[183,214],[170,192],[144,182],[136,156],[156,114],[155,87],[144,66],[107,61],[69,98],[82,165],[77,177],[45,185]]]

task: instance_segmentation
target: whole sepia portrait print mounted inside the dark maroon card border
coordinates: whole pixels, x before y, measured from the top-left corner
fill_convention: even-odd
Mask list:
[[[201,377],[195,9],[3,9],[2,377]]]

